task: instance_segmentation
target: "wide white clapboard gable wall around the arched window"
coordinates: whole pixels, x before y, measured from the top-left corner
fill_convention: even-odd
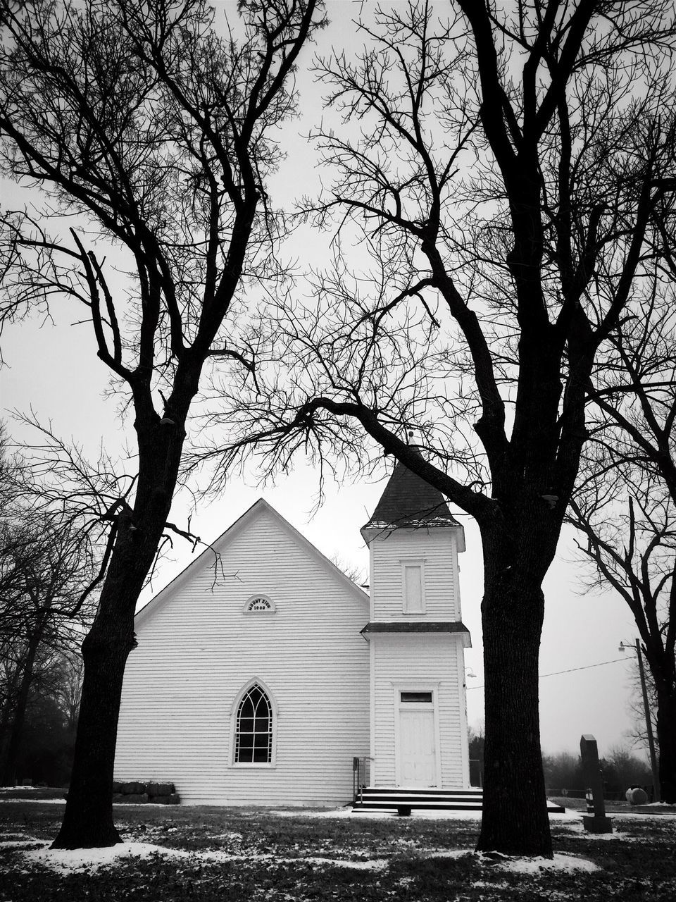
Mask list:
[[[369,749],[368,597],[266,502],[137,618],[115,778],[173,782],[187,803],[341,804]],[[244,613],[253,595],[275,613]],[[242,689],[276,709],[272,766],[233,764]]]

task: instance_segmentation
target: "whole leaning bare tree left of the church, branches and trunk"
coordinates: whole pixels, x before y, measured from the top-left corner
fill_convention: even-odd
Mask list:
[[[284,219],[266,179],[320,6],[241,3],[224,36],[202,0],[0,6],[0,152],[5,171],[50,206],[5,211],[3,319],[55,297],[79,305],[135,442],[132,478],[103,514],[105,579],[82,647],[57,847],[120,841],[114,748],[134,609],[169,528],[203,370],[254,372],[244,292],[272,293],[285,275],[275,253]]]

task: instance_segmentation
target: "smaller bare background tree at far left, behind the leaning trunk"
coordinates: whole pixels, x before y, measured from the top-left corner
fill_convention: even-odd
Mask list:
[[[24,733],[36,738],[36,704],[58,708],[61,739],[74,741],[79,646],[105,572],[109,462],[102,455],[87,469],[77,449],[42,435],[50,440],[47,453],[27,456],[0,424],[0,778],[7,785],[31,751]]]

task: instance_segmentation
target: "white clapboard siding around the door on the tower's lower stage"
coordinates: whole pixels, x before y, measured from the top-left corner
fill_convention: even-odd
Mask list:
[[[396,785],[395,706],[400,689],[437,690],[441,786],[469,786],[463,649],[457,634],[379,633],[372,645],[374,783]]]

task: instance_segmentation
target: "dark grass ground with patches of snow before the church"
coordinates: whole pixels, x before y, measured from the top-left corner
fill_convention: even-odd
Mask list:
[[[612,838],[553,820],[545,862],[473,854],[477,820],[155,805],[115,806],[122,849],[50,858],[62,812],[0,804],[0,902],[676,899],[669,815],[611,815]]]

